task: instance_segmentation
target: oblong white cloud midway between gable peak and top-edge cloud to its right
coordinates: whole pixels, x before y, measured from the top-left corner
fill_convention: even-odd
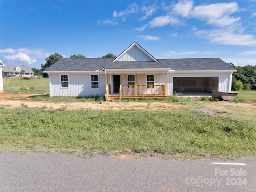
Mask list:
[[[154,18],[152,21],[149,22],[149,26],[151,28],[154,28],[154,27],[162,27],[168,24],[174,25],[178,23],[179,23],[179,20],[177,18],[173,18],[171,16],[166,15],[166,16],[159,16]]]

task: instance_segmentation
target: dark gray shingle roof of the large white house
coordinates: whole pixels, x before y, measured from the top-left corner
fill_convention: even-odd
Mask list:
[[[105,69],[159,69],[172,70],[235,70],[220,58],[158,59],[154,61],[116,61],[114,58],[62,58],[50,66],[50,71],[96,71]]]

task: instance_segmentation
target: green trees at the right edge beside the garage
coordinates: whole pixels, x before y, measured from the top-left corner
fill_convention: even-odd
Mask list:
[[[256,90],[256,66],[228,64],[237,70],[232,75],[232,90]]]

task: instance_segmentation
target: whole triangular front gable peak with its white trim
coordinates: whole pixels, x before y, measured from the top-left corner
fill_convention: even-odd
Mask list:
[[[127,56],[129,59],[127,60]],[[113,62],[116,61],[154,61],[158,62],[151,54],[149,54],[142,46],[134,41],[126,50],[117,56]]]

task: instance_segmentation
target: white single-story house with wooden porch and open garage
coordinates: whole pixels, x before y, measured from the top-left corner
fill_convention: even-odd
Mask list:
[[[52,96],[166,98],[177,91],[231,90],[234,68],[219,58],[156,59],[134,42],[117,58],[62,58],[44,71]]]

